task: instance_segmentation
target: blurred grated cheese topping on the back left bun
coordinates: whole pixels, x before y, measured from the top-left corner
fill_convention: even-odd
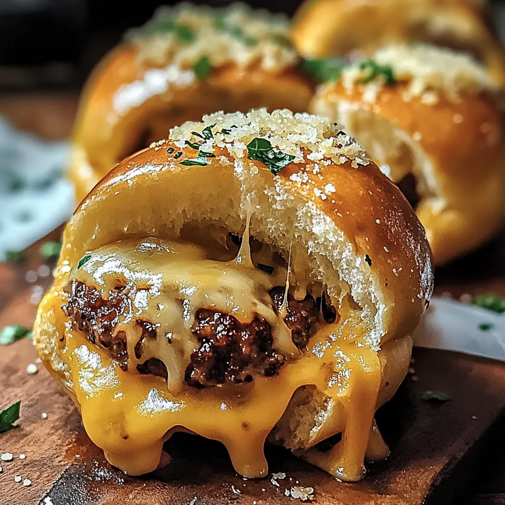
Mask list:
[[[174,25],[185,33],[180,36]],[[266,70],[282,70],[298,62],[288,36],[287,16],[241,3],[226,8],[162,6],[143,27],[126,34],[137,45],[142,64],[188,68],[208,57],[214,68],[260,63]]]

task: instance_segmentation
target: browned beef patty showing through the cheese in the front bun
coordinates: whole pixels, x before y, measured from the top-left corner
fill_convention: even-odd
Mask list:
[[[284,287],[274,287],[270,296],[279,310]],[[90,342],[106,348],[111,358],[126,371],[126,334],[123,331],[114,334],[114,329],[121,314],[130,311],[130,304],[128,296],[121,289],[112,291],[108,298],[104,298],[95,288],[72,281],[67,303],[62,309],[71,320],[74,330],[84,332]],[[320,298],[307,295],[304,300],[297,301],[288,294],[284,321],[291,330],[293,343],[299,349],[304,348],[316,332],[317,324],[322,319],[321,307],[324,319],[328,321],[328,314],[331,319],[335,310],[327,304],[321,304]],[[136,359],[141,360],[143,342],[156,339],[157,330],[148,321],[136,320],[136,324],[141,327],[141,336],[134,351]],[[286,361],[285,356],[273,348],[270,324],[258,315],[250,323],[241,323],[229,314],[198,309],[192,332],[199,343],[185,371],[185,381],[192,387],[250,382],[256,374],[271,377],[279,373]],[[154,358],[137,365],[137,370],[141,374],[167,377],[165,365]]]

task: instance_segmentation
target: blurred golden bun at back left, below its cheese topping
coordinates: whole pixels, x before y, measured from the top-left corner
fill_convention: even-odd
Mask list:
[[[188,12],[191,9],[195,15],[201,15],[198,8],[190,7]],[[211,14],[218,12],[211,10]],[[254,16],[255,11],[251,10],[250,15]],[[162,69],[174,63],[172,57],[163,57],[163,51],[156,44],[157,39],[149,42],[148,38],[121,43],[97,65],[85,85],[73,133],[70,165],[78,201],[116,163],[165,138],[170,128],[184,121],[199,120],[204,114],[218,110],[247,112],[258,107],[304,112],[314,92],[313,84],[296,68],[294,51],[289,65],[282,63],[278,68],[266,69],[258,61],[244,65],[231,61],[219,64],[201,79],[188,76],[192,65],[184,62],[178,70],[182,76],[178,78],[179,83],[165,86],[166,89],[161,86],[161,91],[149,90],[155,80],[166,79]],[[230,38],[228,44],[236,46],[240,41]],[[221,50],[213,45],[209,41],[209,54]],[[202,51],[205,52],[205,47]],[[161,57],[157,55],[159,52]],[[231,49],[230,52],[233,53]],[[278,58],[276,53],[272,58]],[[154,84],[159,85],[159,82]],[[121,93],[127,94],[128,87],[133,91],[129,98],[133,103],[131,108],[125,106],[125,100],[118,99]],[[142,93],[145,96],[139,99]]]

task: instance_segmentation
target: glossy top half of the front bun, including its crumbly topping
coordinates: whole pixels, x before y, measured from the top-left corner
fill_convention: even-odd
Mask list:
[[[119,163],[70,220],[57,277],[125,237],[240,233],[247,212],[251,235],[286,257],[293,244],[330,295],[352,294],[371,345],[413,331],[433,287],[424,229],[339,125],[287,110],[205,116]]]

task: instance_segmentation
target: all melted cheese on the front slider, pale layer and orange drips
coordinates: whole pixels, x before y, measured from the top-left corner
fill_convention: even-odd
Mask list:
[[[156,324],[158,345],[151,353],[165,363],[169,376],[167,384],[161,377],[136,374],[133,366],[121,370],[85,335],[62,324],[65,318],[55,317],[57,332],[65,335],[62,360],[71,371],[67,384],[80,406],[86,432],[111,464],[130,475],[152,471],[164,441],[175,431],[189,430],[221,441],[239,474],[265,476],[263,448],[268,434],[293,393],[315,385],[331,400],[328,419],[314,443],[336,433],[342,433],[342,440],[327,453],[311,449],[300,456],[343,480],[363,477],[381,368],[377,352],[365,342],[369,329],[346,297],[339,321],[322,328],[301,354],[294,348],[295,354],[289,330],[266,299],[270,287],[285,282],[285,269],[269,276],[250,266],[244,269],[233,259],[209,260],[197,246],[159,239],[125,240],[87,256],[69,279],[104,294],[118,283],[126,286],[133,300],[131,313],[121,321],[128,350],[138,338],[137,316]],[[65,292],[52,290],[49,298],[56,298],[55,307],[61,307]],[[189,300],[186,312],[184,300]],[[274,377],[255,376],[247,384],[203,390],[183,388],[186,353],[195,347],[188,329],[199,307],[216,308],[240,321],[250,321],[258,313],[272,325],[275,348],[291,359]],[[168,332],[176,342],[172,347],[163,341]]]

